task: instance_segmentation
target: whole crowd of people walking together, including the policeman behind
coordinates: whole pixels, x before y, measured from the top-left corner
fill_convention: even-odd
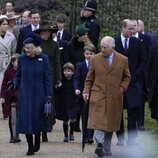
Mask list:
[[[147,98],[151,117],[158,120],[158,41],[145,32],[144,22],[124,19],[120,35],[105,35],[99,47],[95,0],[85,3],[73,35],[66,30],[64,13],[48,21],[37,9],[16,15],[13,1],[5,5],[0,15],[0,101],[3,118],[9,117],[9,142],[21,142],[19,134],[25,134],[26,154],[34,155],[41,135],[47,142],[47,132],[59,119],[64,142],[74,141],[74,132],[82,130],[84,143],[96,140],[98,157],[111,156],[113,132],[118,146],[125,143],[126,109],[127,145],[137,145],[138,131],[145,131]],[[53,109],[49,118],[44,113],[48,102]]]

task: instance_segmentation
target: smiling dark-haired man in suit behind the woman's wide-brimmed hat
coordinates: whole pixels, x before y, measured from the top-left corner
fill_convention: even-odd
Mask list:
[[[28,35],[30,32],[39,29],[39,23],[41,21],[41,18],[40,18],[40,13],[37,9],[31,10],[30,20],[31,23],[28,26],[25,26],[19,30],[16,53],[21,54],[23,52],[22,47],[23,47],[24,37]]]

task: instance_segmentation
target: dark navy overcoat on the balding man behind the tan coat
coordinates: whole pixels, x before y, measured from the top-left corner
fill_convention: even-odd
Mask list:
[[[131,81],[125,93],[124,105],[128,108],[141,106],[141,77],[146,69],[146,58],[143,54],[143,46],[139,39],[131,37],[129,47],[125,52],[121,36],[115,38],[115,50],[128,58]]]

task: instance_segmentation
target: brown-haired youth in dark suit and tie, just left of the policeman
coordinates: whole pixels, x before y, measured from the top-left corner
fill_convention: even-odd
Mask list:
[[[58,14],[56,16],[56,23],[58,25],[58,32],[56,33],[55,36],[55,41],[58,42],[59,45],[59,50],[60,50],[60,62],[61,65],[65,64],[65,49],[67,46],[67,42],[69,42],[71,40],[71,34],[65,30],[65,25],[67,22],[67,16],[63,13]]]

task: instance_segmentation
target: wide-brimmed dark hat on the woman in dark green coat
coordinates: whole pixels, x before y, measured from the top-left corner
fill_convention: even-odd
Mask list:
[[[39,29],[33,31],[35,33],[40,33],[43,30],[50,30],[52,33],[58,32],[58,25],[52,24],[50,21],[43,21],[40,24]]]

